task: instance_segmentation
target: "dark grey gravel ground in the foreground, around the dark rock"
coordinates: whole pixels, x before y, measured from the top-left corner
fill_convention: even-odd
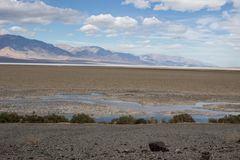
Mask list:
[[[239,160],[240,125],[0,124],[0,159]]]

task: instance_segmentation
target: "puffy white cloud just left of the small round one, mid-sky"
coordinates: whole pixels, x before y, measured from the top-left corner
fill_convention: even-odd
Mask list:
[[[114,17],[111,14],[99,14],[92,15],[86,19],[85,25],[80,28],[80,31],[88,32],[104,32],[108,36],[115,35],[119,31],[124,31],[125,34],[128,30],[137,27],[138,22],[134,18],[124,16],[124,17]]]

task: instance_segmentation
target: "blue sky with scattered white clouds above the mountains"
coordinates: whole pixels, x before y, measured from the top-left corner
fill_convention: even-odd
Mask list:
[[[240,67],[240,0],[0,0],[0,34]]]

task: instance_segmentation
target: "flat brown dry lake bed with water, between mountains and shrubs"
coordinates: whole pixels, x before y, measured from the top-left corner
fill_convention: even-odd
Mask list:
[[[207,122],[240,114],[240,71],[1,65],[0,111]]]

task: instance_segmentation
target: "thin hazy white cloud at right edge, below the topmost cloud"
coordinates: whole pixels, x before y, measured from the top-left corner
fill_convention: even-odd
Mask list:
[[[240,51],[240,13],[223,12],[222,17],[203,17],[196,21],[203,39],[210,46],[228,46]],[[203,36],[202,36],[203,37]]]

